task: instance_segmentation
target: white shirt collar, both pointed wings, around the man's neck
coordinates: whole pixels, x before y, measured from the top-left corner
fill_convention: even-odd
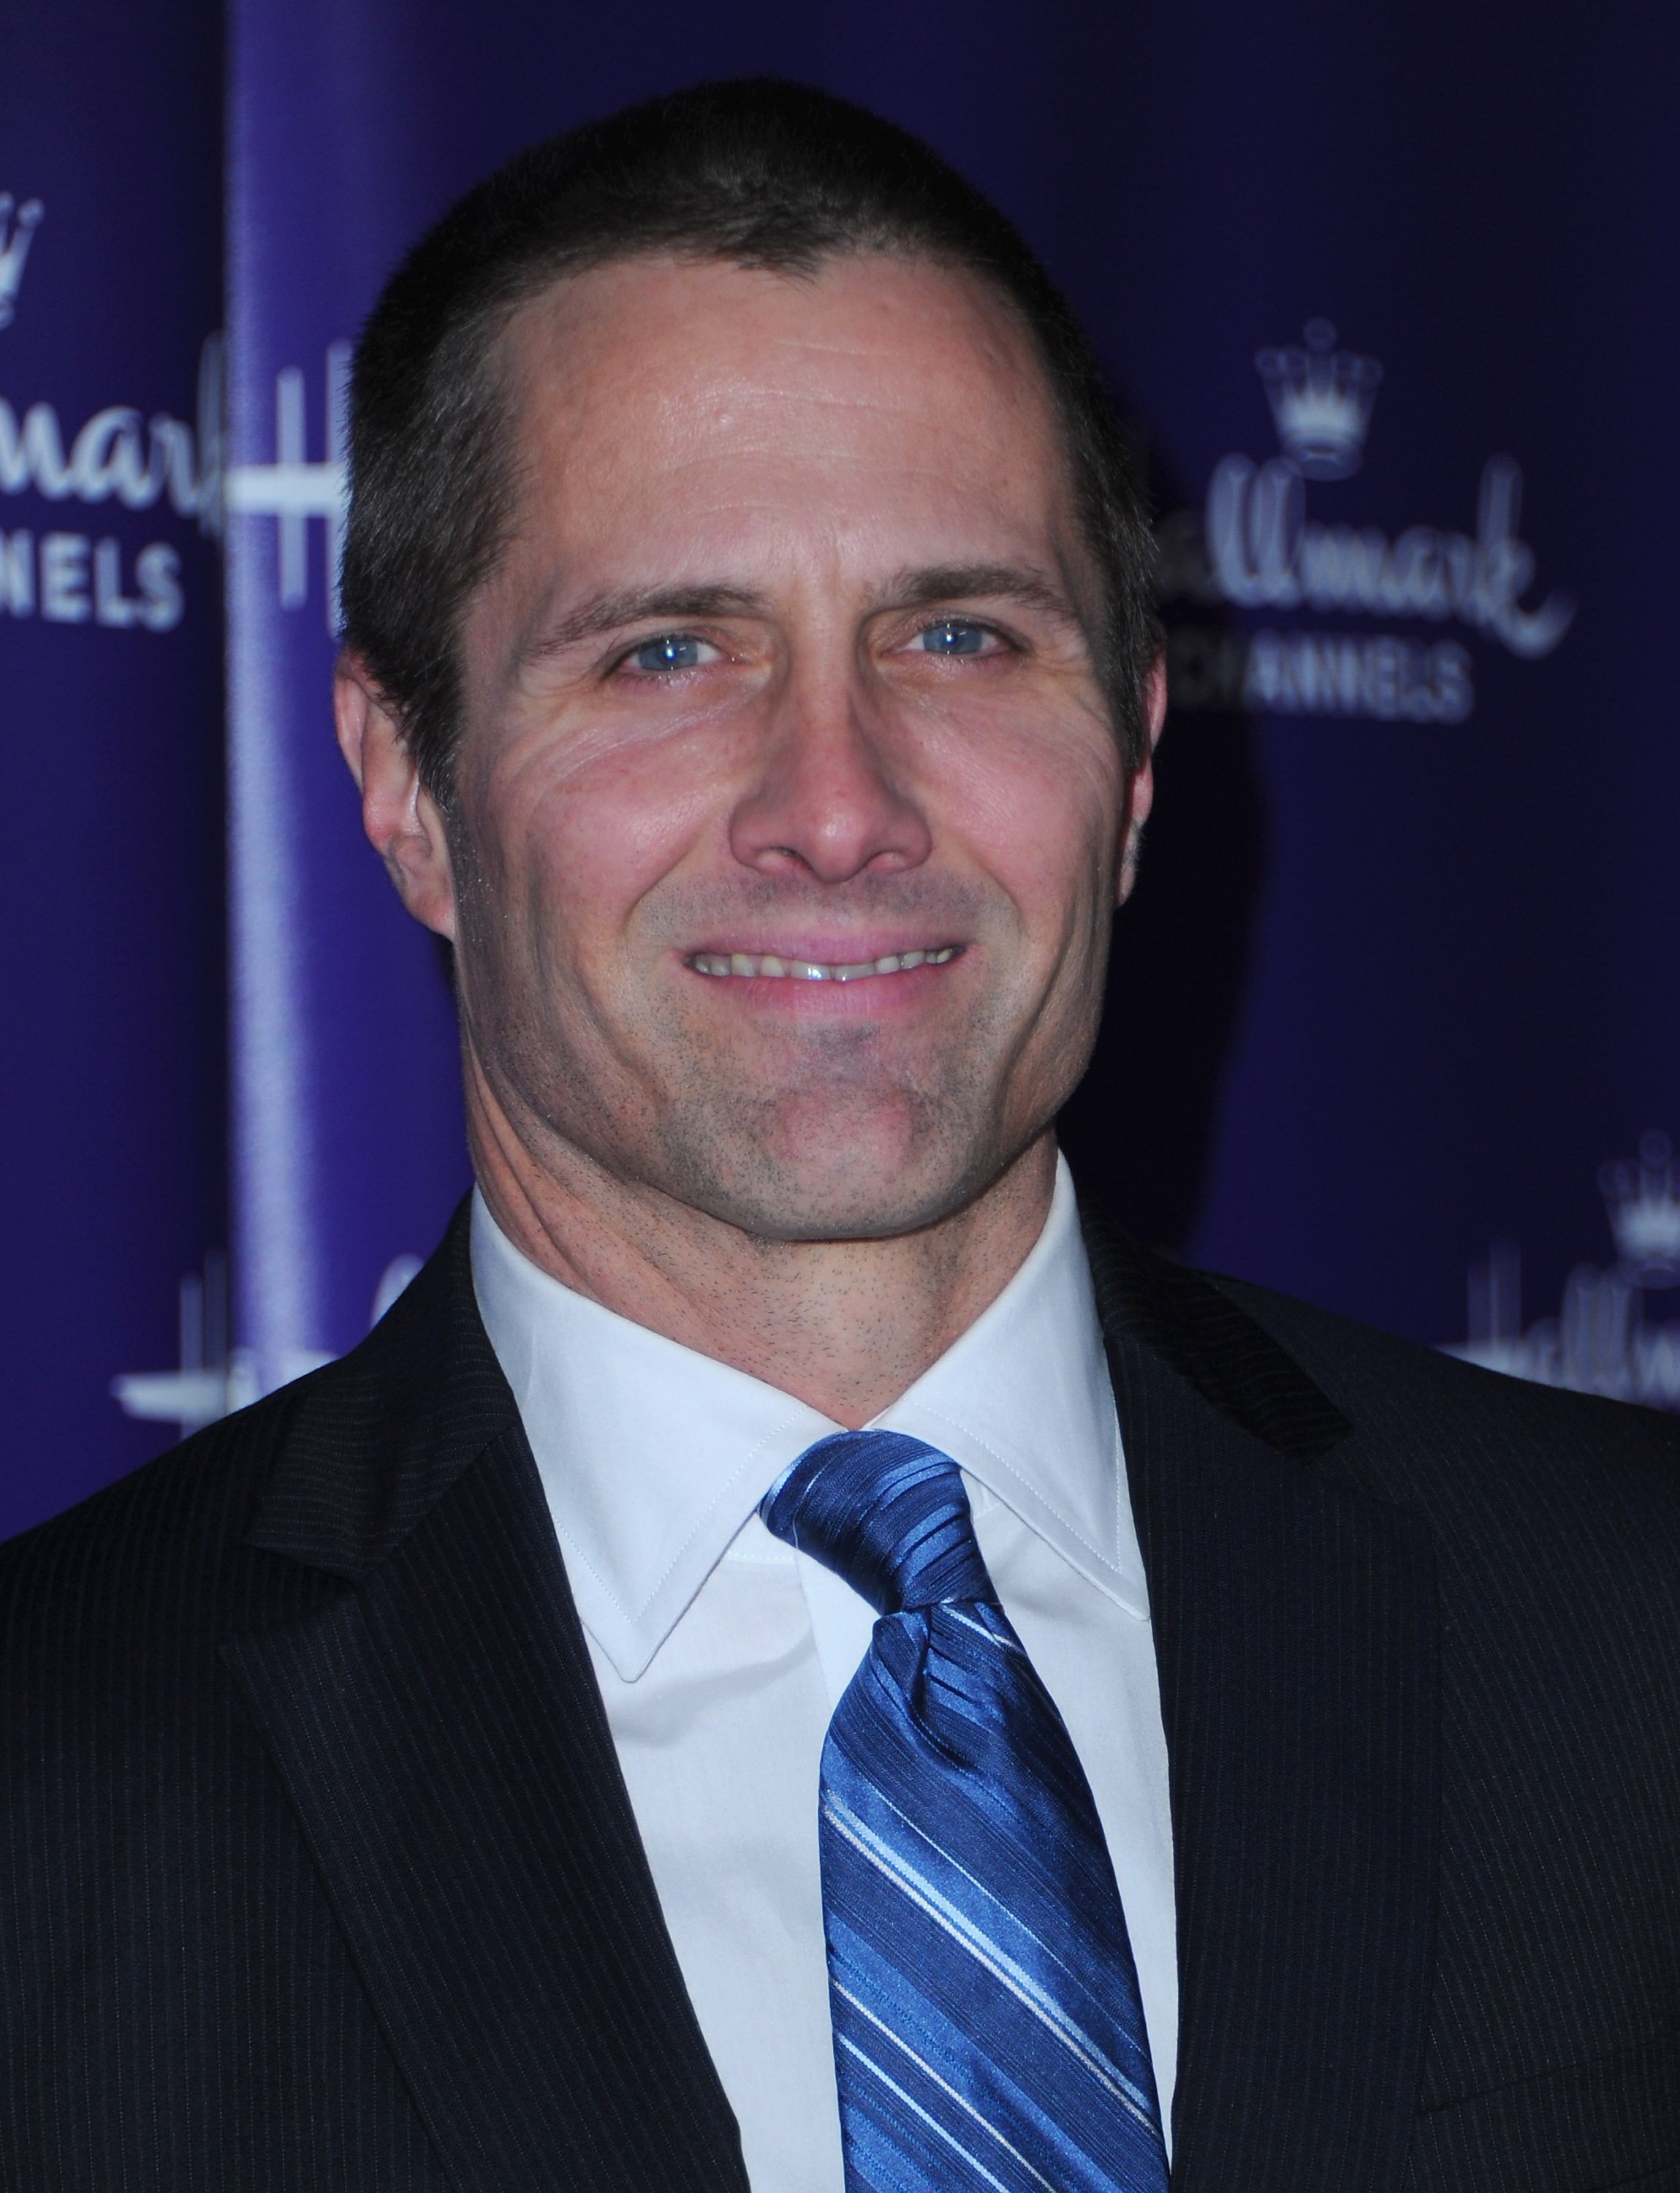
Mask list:
[[[472,1274],[579,1618],[634,1682],[763,1493],[838,1425],[634,1325],[513,1248],[483,1195]],[[943,1447],[1130,1614],[1149,1601],[1072,1180],[976,1322],[877,1419]]]

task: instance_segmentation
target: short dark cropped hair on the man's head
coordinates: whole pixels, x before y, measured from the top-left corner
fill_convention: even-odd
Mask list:
[[[939,154],[803,83],[704,83],[515,154],[386,281],[351,371],[344,643],[447,798],[461,621],[515,502],[498,338],[564,274],[671,252],[811,274],[849,252],[961,268],[1024,318],[1103,588],[1099,675],[1130,763],[1160,645],[1151,537],[1097,353],[1011,221]]]

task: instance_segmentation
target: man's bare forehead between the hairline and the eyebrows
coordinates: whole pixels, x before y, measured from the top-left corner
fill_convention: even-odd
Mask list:
[[[1033,340],[976,276],[926,259],[860,252],[809,276],[629,259],[524,305],[507,362],[524,535],[564,513],[572,539],[827,531],[858,548],[893,531],[904,555],[917,529],[930,548],[952,526],[1015,546],[1059,529]]]

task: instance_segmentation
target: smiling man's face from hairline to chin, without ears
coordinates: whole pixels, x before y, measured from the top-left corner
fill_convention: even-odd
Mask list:
[[[1127,820],[1029,338],[917,261],[640,259],[529,305],[509,364],[469,1075],[537,1162],[750,1235],[932,1224],[1083,1066]]]

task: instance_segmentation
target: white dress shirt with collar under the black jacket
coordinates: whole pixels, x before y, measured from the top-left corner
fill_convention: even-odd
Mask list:
[[[838,1425],[590,1303],[472,1211],[478,1309],[555,1518],[665,1923],[757,2193],[842,2193],[816,1794],[873,1607],[757,1507]],[[1004,1292],[875,1425],[963,1467],[998,1599],[1103,1822],[1171,2138],[1167,1741],[1072,1182]]]

